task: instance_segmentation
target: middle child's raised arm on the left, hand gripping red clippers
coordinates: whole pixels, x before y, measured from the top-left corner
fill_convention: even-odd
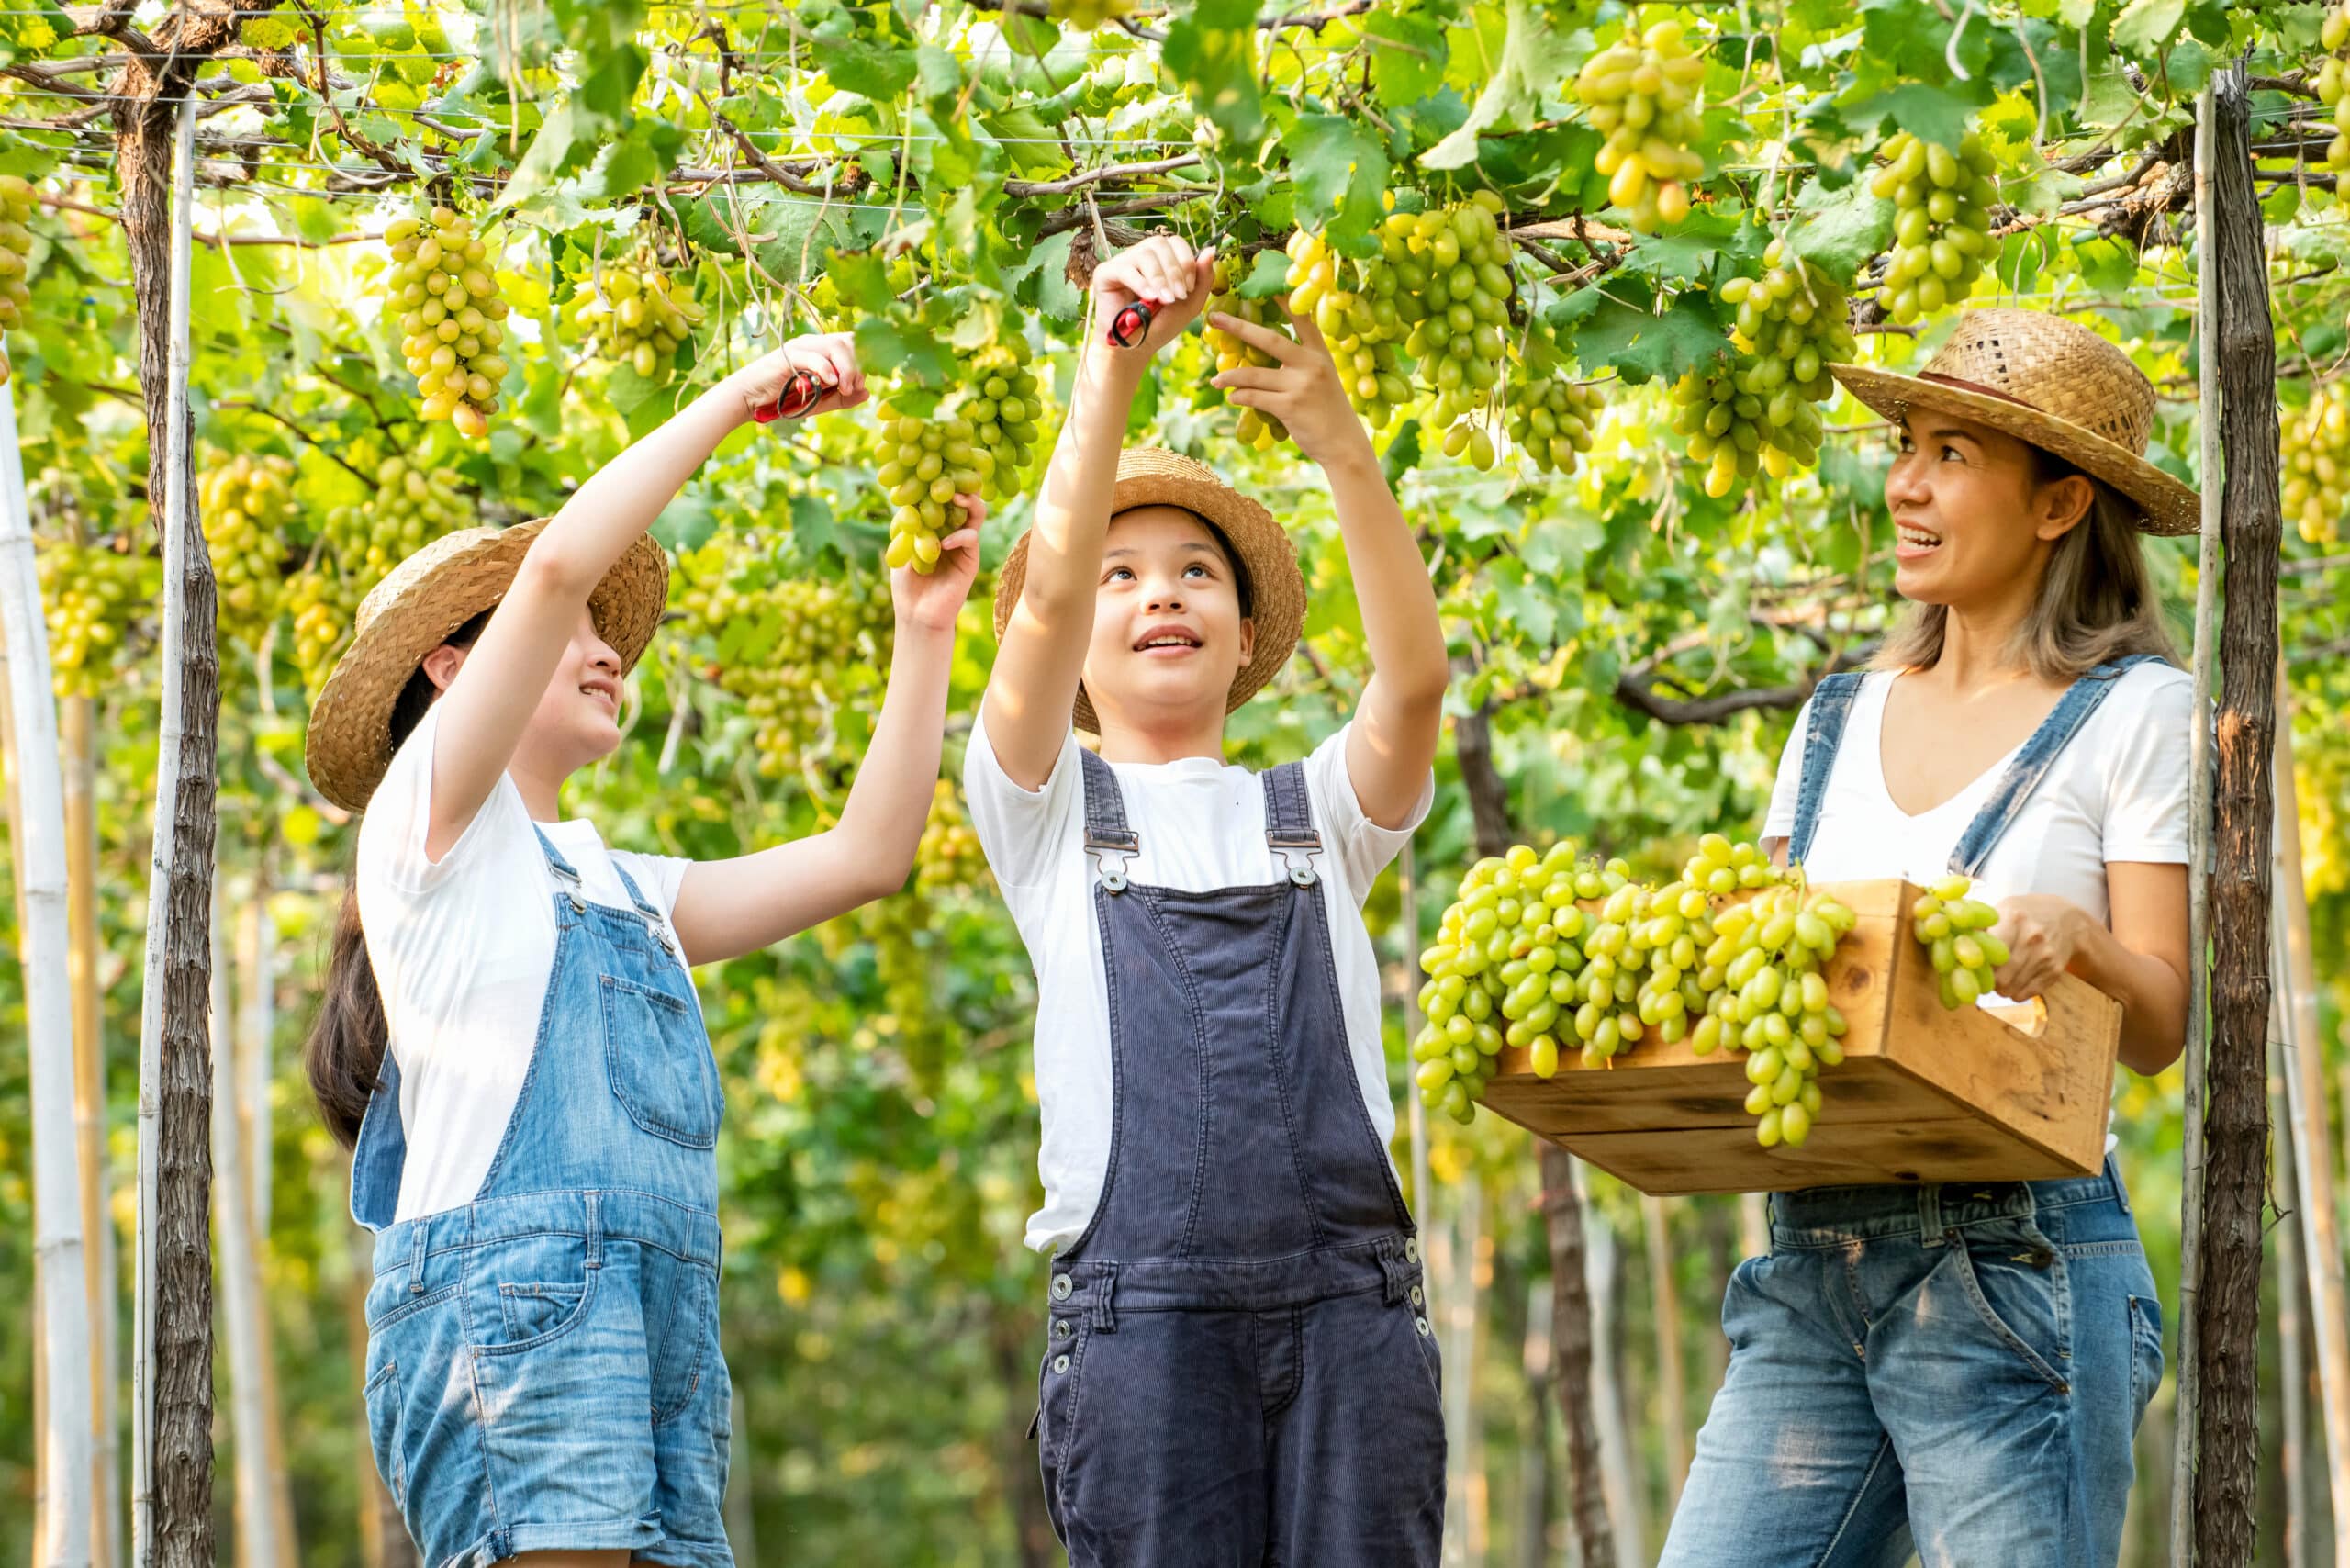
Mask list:
[[[1208,303],[1210,266],[1213,252],[1194,256],[1182,240],[1159,235],[1093,273],[1097,322],[1116,320],[1137,299],[1152,301],[1156,315],[1149,334],[1133,348],[1114,348],[1102,341],[1100,329],[1086,334],[1069,416],[1036,491],[1027,578],[980,705],[996,762],[1025,790],[1036,790],[1053,776],[1053,762],[1069,738],[1069,705],[1093,639],[1093,595],[1102,578],[1102,538],[1109,531],[1109,498],[1119,487],[1126,414],[1152,355],[1175,341]]]

